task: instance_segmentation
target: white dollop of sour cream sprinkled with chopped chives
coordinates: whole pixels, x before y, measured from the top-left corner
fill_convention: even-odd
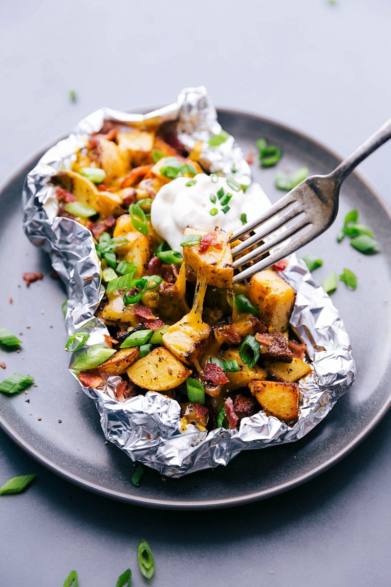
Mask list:
[[[219,198],[217,192],[221,189],[224,195]],[[222,203],[227,195],[229,210],[223,212]],[[225,177],[199,173],[193,180],[178,177],[160,188],[151,205],[151,223],[159,237],[174,251],[181,251],[185,228],[211,232],[217,227],[234,232],[242,227],[243,214],[247,221],[254,220],[269,207],[270,200],[259,184],[251,184],[243,193],[233,190]]]

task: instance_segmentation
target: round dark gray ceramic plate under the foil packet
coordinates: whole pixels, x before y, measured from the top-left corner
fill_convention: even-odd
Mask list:
[[[260,136],[280,146],[284,151],[278,164],[281,170],[306,165],[311,174],[323,174],[339,160],[316,141],[270,120],[225,110],[219,111],[219,120],[245,153],[249,146],[254,149]],[[0,351],[0,361],[7,365],[1,375],[28,373],[38,385],[28,394],[0,394],[0,425],[33,458],[81,487],[118,500],[161,508],[220,507],[266,498],[303,483],[348,454],[379,423],[391,405],[387,375],[391,368],[391,218],[372,188],[355,174],[344,184],[334,226],[302,251],[324,259],[324,266],[315,273],[319,282],[344,267],[358,275],[355,292],[341,284],[333,295],[358,365],[351,392],[301,441],[246,451],[227,467],[179,480],[162,480],[156,471],[146,470],[142,485],[133,487],[130,459],[104,444],[93,402],[67,372],[62,285],[49,277],[46,255],[33,247],[22,231],[22,184],[41,154],[30,158],[6,181],[0,200],[0,322],[16,334],[20,332],[23,340],[19,353]],[[276,168],[262,170],[257,163],[252,168],[271,200],[281,197],[283,193],[274,188]],[[375,230],[380,254],[364,257],[348,242],[336,243],[336,233],[352,208],[358,208],[361,221]],[[45,278],[26,288],[24,271],[43,271]]]

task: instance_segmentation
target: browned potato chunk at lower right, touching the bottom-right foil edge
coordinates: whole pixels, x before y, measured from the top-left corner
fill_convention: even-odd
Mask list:
[[[297,420],[299,386],[297,383],[253,381],[250,390],[264,410],[284,422]]]

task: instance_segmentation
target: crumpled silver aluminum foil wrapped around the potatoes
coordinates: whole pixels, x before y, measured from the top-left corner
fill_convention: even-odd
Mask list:
[[[234,177],[243,184],[251,181],[249,166],[233,137],[210,149],[208,139],[219,133],[221,127],[204,87],[186,88],[176,103],[145,115],[97,110],[79,123],[74,134],[45,153],[26,177],[23,225],[30,241],[49,253],[53,268],[66,284],[67,332],[72,335],[81,327],[90,332],[87,347],[105,345],[103,335],[108,333],[94,316],[104,293],[100,262],[90,231],[76,221],[56,217],[57,200],[50,178],[70,167],[76,151],[86,144],[88,134],[100,130],[105,119],[131,126],[175,121],[186,150],[190,151],[196,141],[202,141],[202,164],[211,173],[222,171],[229,176],[234,164],[237,170]],[[259,188],[257,184],[253,186]],[[239,430],[207,432],[190,424],[181,432],[178,402],[156,392],[118,402],[114,391],[121,378],[105,376],[106,384],[101,388],[83,389],[96,403],[107,440],[124,450],[133,461],[141,461],[168,477],[181,477],[226,465],[244,449],[298,440],[324,419],[355,380],[349,336],[331,299],[295,255],[291,255],[283,275],[297,291],[291,325],[306,343],[313,367],[313,372],[300,382],[300,416],[294,426],[260,412],[243,419]],[[72,353],[70,365],[75,355],[83,352]],[[77,378],[71,368],[70,372]]]

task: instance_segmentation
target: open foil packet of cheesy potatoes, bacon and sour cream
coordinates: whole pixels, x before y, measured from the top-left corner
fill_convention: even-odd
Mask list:
[[[205,89],[92,114],[23,198],[69,289],[70,370],[132,460],[179,477],[297,440],[353,383],[342,321],[294,256],[232,284],[230,235],[269,203]]]

